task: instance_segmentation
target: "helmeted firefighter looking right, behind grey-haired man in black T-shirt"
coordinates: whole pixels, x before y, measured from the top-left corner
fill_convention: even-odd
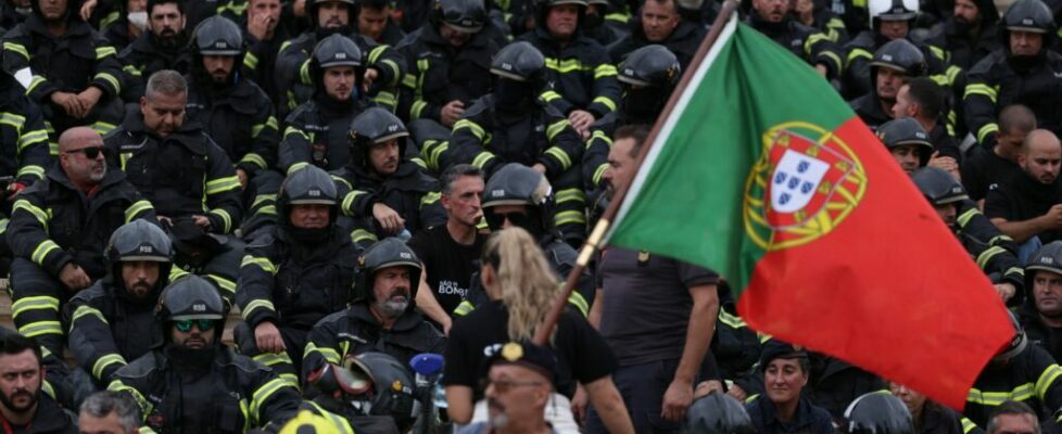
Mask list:
[[[397,116],[371,107],[350,128],[351,158],[333,176],[342,212],[353,217],[351,238],[365,246],[377,239],[442,225],[439,181],[407,157],[409,133]]]

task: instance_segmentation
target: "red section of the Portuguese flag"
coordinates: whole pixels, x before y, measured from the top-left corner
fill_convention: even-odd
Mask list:
[[[852,118],[834,133],[861,161],[865,195],[832,232],[768,252],[738,310],[754,329],[961,411],[1013,336],[1003,303],[867,126]]]

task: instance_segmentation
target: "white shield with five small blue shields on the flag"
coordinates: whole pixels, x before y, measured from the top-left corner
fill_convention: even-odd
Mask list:
[[[786,214],[804,208],[827,170],[830,165],[821,159],[785,150],[771,175],[771,208]]]

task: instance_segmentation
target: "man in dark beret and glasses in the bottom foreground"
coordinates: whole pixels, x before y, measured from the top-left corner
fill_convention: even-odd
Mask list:
[[[557,360],[548,349],[509,342],[491,358],[486,376],[490,419],[459,434],[556,433],[544,418]]]

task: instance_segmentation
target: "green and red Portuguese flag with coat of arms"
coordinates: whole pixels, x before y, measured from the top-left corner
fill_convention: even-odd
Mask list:
[[[1004,306],[804,61],[731,18],[687,72],[609,244],[719,271],[754,329],[962,409]]]

